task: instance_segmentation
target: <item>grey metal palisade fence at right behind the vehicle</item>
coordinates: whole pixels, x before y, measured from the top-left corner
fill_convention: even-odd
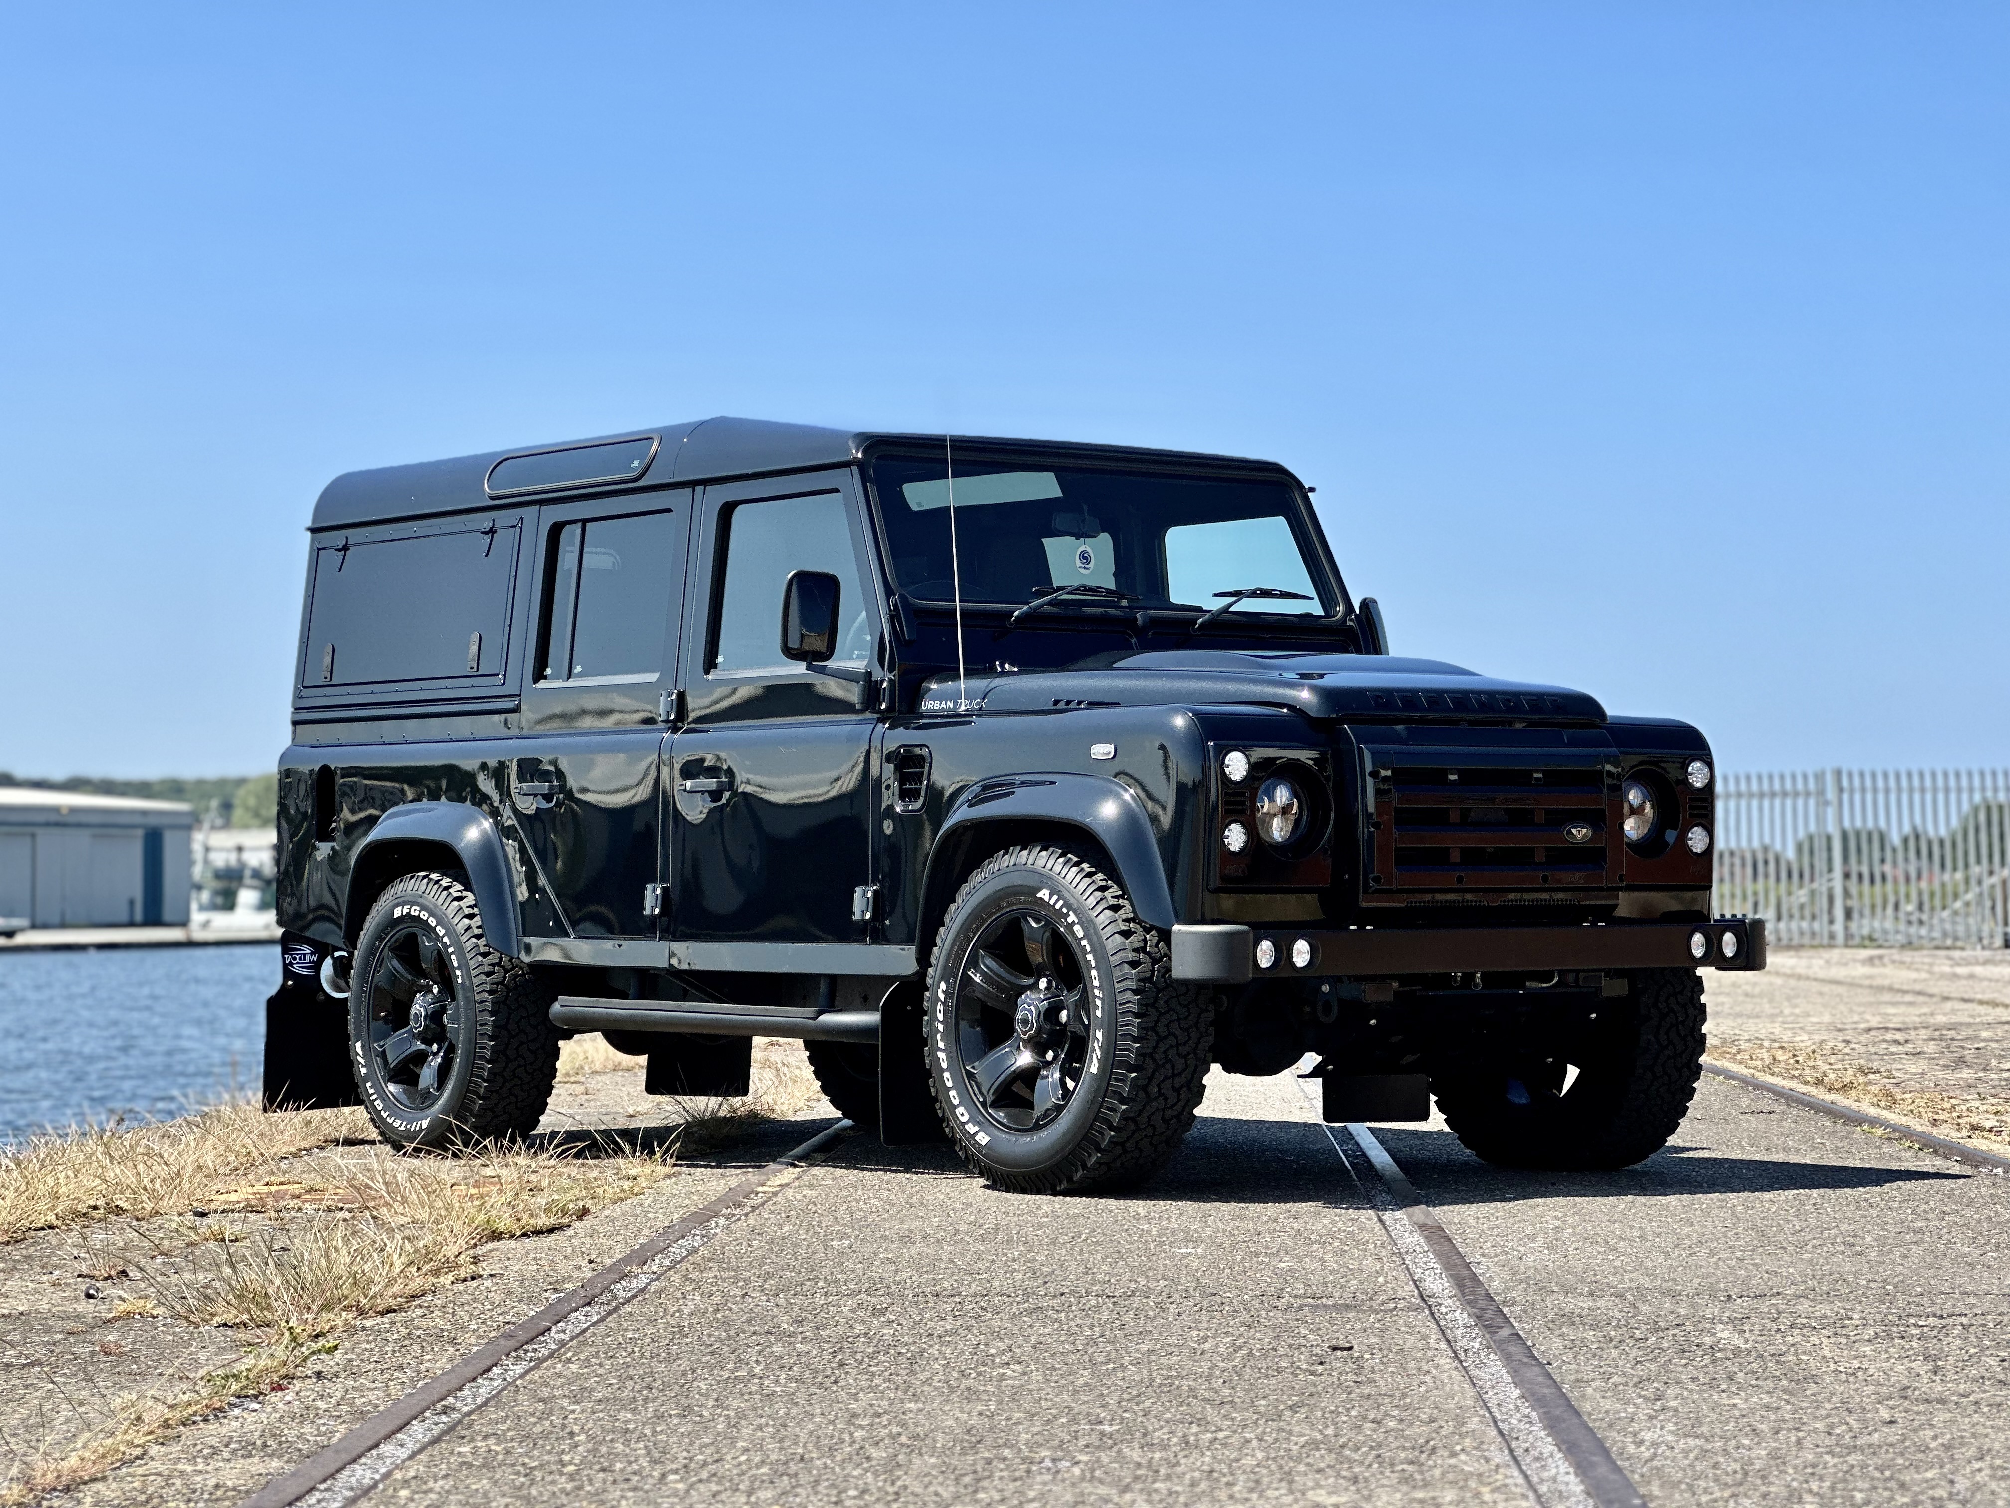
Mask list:
[[[1715,901],[1777,945],[2010,947],[2010,770],[1721,776]]]

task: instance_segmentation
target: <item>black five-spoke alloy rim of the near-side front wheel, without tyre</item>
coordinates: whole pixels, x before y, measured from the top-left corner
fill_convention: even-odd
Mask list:
[[[1009,1132],[1053,1122],[1089,1060],[1087,969],[1031,907],[995,915],[957,977],[957,1046],[979,1108]]]

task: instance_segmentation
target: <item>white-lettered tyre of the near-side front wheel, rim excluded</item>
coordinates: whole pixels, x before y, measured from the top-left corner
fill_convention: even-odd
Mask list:
[[[987,915],[1029,901],[1049,909],[1101,973],[1101,1064],[1053,1124],[1015,1134],[987,1118],[963,1074],[951,975]],[[923,1052],[949,1140],[991,1186],[1108,1192],[1150,1178],[1192,1130],[1212,1035],[1212,999],[1174,983],[1166,933],[1140,921],[1124,889],[1081,855],[1049,844],[1007,849],[981,863],[949,903],[931,955]]]

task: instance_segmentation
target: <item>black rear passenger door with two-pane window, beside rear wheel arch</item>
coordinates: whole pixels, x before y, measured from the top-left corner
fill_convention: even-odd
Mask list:
[[[525,736],[509,814],[573,937],[649,937],[661,853],[665,698],[675,686],[689,491],[547,507]]]

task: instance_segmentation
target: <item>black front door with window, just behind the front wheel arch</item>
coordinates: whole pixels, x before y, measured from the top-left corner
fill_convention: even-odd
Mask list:
[[[880,625],[850,473],[708,487],[683,633],[685,726],[669,748],[671,937],[856,943],[870,885]],[[830,670],[782,657],[790,571],[838,577]]]

